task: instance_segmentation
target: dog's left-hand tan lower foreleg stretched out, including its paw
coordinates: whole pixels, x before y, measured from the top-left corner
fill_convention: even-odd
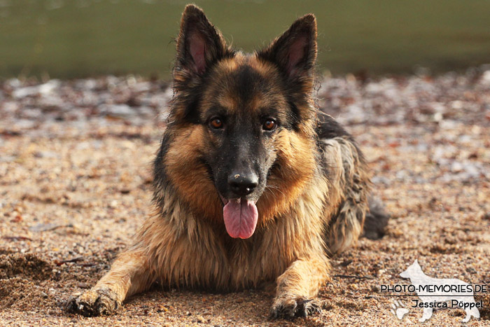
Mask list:
[[[66,303],[68,312],[83,316],[112,314],[123,300],[144,291],[153,283],[143,251],[125,251],[114,261],[111,270],[89,291]]]

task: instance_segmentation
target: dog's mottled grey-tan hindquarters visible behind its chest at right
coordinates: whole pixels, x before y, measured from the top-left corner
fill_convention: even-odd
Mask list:
[[[325,240],[333,256],[356,242],[363,228],[365,237],[382,237],[389,216],[381,202],[369,196],[367,165],[353,137],[332,117],[321,114],[319,118],[318,145],[331,183],[329,202],[337,209],[326,213],[332,219]]]

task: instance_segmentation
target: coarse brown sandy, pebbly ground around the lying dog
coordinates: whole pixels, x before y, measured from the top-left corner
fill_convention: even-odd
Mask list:
[[[381,284],[418,258],[426,274],[490,284],[490,71],[328,78],[318,104],[347,125],[391,213],[383,239],[332,259],[321,314],[267,319],[273,287],[212,294],[158,288],[118,314],[63,311],[106,272],[151,211],[165,83],[129,78],[0,84],[0,326],[409,326]],[[407,293],[403,293],[407,294]],[[490,299],[468,326],[490,325]],[[424,326],[460,326],[461,309]],[[167,325],[166,325],[167,324]]]

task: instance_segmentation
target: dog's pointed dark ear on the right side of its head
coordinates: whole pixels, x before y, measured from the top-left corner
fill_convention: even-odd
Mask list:
[[[304,15],[258,57],[274,62],[286,77],[302,77],[312,73],[316,60],[316,19]]]

